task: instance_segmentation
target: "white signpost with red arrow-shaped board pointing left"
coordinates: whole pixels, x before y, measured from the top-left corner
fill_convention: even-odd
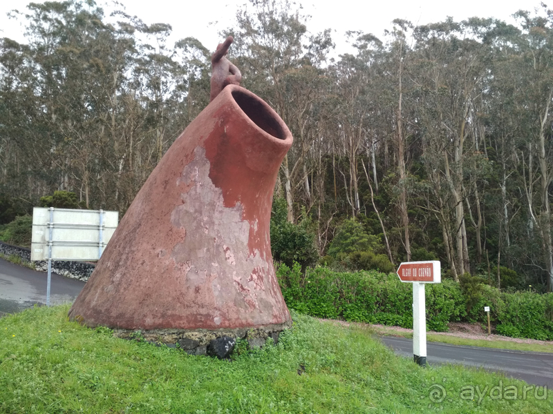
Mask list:
[[[427,364],[427,309],[424,284],[442,282],[438,260],[404,262],[397,268],[402,282],[413,284],[413,357],[419,365]]]

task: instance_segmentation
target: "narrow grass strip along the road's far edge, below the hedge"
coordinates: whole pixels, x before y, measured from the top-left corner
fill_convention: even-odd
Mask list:
[[[384,336],[395,336],[395,337],[404,337],[412,338],[412,332],[403,332],[403,331],[392,331],[390,329],[375,329],[375,333],[378,335]],[[483,348],[497,348],[497,349],[508,349],[510,351],[532,351],[532,352],[543,352],[543,353],[553,353],[553,344],[544,345],[544,344],[525,344],[512,341],[502,341],[498,339],[469,339],[462,337],[454,337],[449,335],[435,335],[433,333],[427,332],[427,341],[428,342],[442,342],[442,344],[451,344],[451,345],[465,345],[465,346],[482,346]]]

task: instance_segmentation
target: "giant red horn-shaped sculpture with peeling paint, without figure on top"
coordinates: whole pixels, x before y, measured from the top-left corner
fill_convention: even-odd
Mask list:
[[[265,102],[224,88],[142,186],[70,317],[144,330],[290,324],[269,228],[291,144]]]

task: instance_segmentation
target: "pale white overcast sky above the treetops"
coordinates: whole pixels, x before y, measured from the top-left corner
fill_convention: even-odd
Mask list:
[[[173,27],[171,40],[193,36],[212,50],[219,39],[218,32],[233,25],[236,10],[245,0],[119,0],[126,12],[136,15],[145,23],[169,23]],[[26,10],[28,0],[0,1],[0,37],[24,41],[22,28],[6,17],[13,9]],[[41,3],[41,0],[35,0]],[[547,2],[547,0],[545,0]],[[97,1],[102,6],[102,0]],[[332,29],[336,43],[335,55],[351,52],[345,41],[347,30],[362,30],[382,37],[385,29],[391,28],[396,18],[407,19],[416,24],[438,22],[451,16],[456,21],[468,17],[496,17],[514,23],[511,14],[517,10],[534,10],[541,0],[338,0],[298,1],[303,14],[311,16],[310,32]],[[552,5],[553,6],[553,5]],[[104,7],[109,14],[109,6]]]

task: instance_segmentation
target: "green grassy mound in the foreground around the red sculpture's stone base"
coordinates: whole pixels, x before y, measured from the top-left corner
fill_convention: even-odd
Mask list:
[[[68,308],[0,319],[1,413],[551,412],[553,395],[538,400],[530,388],[523,398],[525,382],[459,366],[421,368],[371,330],[296,313],[277,346],[221,361],[84,328],[68,321]],[[503,391],[496,400],[494,386]]]

